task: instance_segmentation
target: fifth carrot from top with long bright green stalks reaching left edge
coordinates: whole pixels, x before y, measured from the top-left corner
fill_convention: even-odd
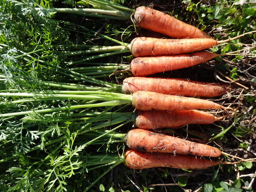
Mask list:
[[[38,91],[38,92],[21,92],[21,93],[10,93],[1,92],[1,96],[9,97],[26,97],[25,99],[13,101],[13,103],[21,102],[34,102],[34,101],[45,101],[45,100],[94,100],[102,101],[97,103],[85,103],[84,105],[72,105],[67,107],[55,107],[46,108],[41,110],[22,111],[14,113],[0,114],[0,117],[9,116],[20,116],[30,113],[46,113],[54,111],[64,111],[67,109],[78,109],[87,107],[106,107],[106,106],[117,106],[124,104],[132,104],[133,107],[138,110],[150,111],[150,110],[194,110],[194,109],[231,109],[230,107],[224,107],[213,101],[207,101],[198,98],[180,97],[174,95],[160,94],[150,91],[137,91],[133,95],[126,95],[114,92],[105,91]]]

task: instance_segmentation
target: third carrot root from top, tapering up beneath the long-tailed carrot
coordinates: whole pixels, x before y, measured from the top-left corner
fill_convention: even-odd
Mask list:
[[[191,67],[217,56],[215,53],[198,52],[159,57],[138,57],[133,59],[130,65],[134,76],[143,77],[155,73],[164,73],[165,71]]]

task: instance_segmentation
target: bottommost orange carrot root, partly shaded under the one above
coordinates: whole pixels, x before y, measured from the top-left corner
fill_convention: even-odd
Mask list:
[[[218,165],[218,161],[201,159],[196,156],[150,153],[128,149],[124,154],[127,167],[132,169],[148,169],[152,167],[171,167],[177,169],[206,169]]]

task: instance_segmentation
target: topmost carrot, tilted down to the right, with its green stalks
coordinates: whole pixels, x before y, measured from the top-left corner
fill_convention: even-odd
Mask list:
[[[176,38],[211,38],[198,28],[188,25],[170,15],[161,11],[151,9],[149,7],[138,7],[136,10],[129,9],[113,1],[107,0],[85,0],[87,3],[97,6],[98,9],[66,9],[53,8],[47,11],[66,12],[79,14],[84,16],[102,17],[108,19],[130,20],[133,15],[132,22],[142,28],[151,31],[166,34]],[[105,7],[105,8],[103,8]],[[103,9],[102,9],[103,8]],[[36,8],[40,10],[40,8]]]

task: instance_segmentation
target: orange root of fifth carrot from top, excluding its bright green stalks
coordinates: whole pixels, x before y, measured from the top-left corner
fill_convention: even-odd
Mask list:
[[[231,109],[213,101],[199,98],[166,95],[150,91],[137,91],[132,95],[132,105],[138,110],[194,110],[194,109]]]

